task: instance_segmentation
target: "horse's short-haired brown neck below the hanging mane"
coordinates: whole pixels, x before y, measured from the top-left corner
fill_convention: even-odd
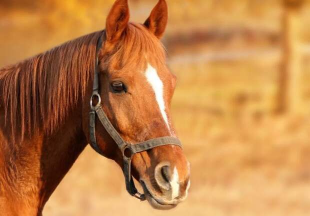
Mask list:
[[[55,132],[43,133],[12,145],[4,136],[0,107],[0,198],[20,215],[40,215],[44,204],[71,168],[87,141],[82,131],[81,108],[70,112]],[[2,128],[1,128],[2,127]],[[5,201],[4,201],[5,202]],[[20,205],[18,208],[16,205]],[[1,213],[1,211],[0,211]],[[1,215],[1,214],[0,214]],[[19,215],[16,213],[16,215]]]

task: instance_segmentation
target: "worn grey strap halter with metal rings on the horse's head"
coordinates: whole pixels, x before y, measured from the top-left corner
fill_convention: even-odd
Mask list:
[[[103,37],[105,33],[103,31]],[[104,39],[105,40],[105,39]],[[101,107],[101,97],[99,94],[99,71],[98,71],[98,52],[102,47],[102,36],[99,37],[96,46],[96,58],[95,58],[95,66],[94,66],[94,78],[93,78],[93,88],[92,88],[92,96],[90,98],[90,113],[89,113],[89,133],[90,133],[90,145],[91,147],[100,155],[103,155],[102,151],[97,145],[96,137],[95,137],[95,117],[97,116],[107,133],[111,136],[111,138],[117,144],[119,150],[122,153],[123,157],[123,174],[125,177],[125,184],[127,192],[141,200],[144,201],[144,194],[140,194],[135,188],[133,178],[131,176],[131,160],[133,155],[139,152],[144,152],[150,149],[153,149],[158,146],[165,145],[175,145],[182,147],[181,142],[175,137],[159,137],[151,140],[144,141],[138,144],[130,144],[122,139],[119,133],[116,131],[112,123],[109,121],[107,116],[105,115],[102,107]],[[97,103],[93,106],[93,99],[97,98]]]

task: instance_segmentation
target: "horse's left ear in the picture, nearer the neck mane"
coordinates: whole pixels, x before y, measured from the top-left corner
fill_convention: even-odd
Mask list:
[[[109,42],[117,41],[125,30],[128,21],[128,1],[116,0],[106,18],[106,40]]]

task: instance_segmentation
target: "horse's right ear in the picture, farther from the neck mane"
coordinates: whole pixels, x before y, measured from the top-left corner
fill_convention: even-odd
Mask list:
[[[144,25],[160,39],[166,28],[167,21],[168,5],[165,0],[159,0],[144,22]]]

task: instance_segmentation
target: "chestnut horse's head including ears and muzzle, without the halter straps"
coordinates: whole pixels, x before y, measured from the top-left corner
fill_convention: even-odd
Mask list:
[[[170,103],[176,78],[165,64],[159,42],[167,22],[160,0],[144,25],[128,23],[126,0],[117,0],[106,21],[106,41],[99,52],[100,95],[104,112],[128,143],[176,136]],[[122,155],[101,125],[97,143],[106,157],[122,166]],[[178,146],[167,145],[133,156],[132,174],[150,205],[175,207],[187,196],[189,164]]]

